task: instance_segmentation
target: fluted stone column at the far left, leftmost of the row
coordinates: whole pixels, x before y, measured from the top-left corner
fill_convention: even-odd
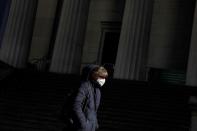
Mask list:
[[[0,59],[14,67],[26,65],[37,0],[12,0]]]

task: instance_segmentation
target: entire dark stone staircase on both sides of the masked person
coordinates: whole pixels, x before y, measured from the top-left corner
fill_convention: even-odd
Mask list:
[[[65,94],[79,76],[17,70],[0,82],[0,131],[61,131]],[[190,94],[186,87],[110,80],[99,131],[189,131]]]

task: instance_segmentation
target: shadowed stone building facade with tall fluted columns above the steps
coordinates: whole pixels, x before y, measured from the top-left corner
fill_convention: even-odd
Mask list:
[[[39,70],[79,74],[86,64],[108,64],[117,79],[174,75],[172,81],[197,85],[195,0],[3,4],[0,60],[14,67],[36,63]]]

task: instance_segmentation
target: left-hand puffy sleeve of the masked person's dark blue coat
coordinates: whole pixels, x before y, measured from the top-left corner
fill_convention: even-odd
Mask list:
[[[82,110],[83,102],[85,99],[86,99],[86,90],[84,88],[84,85],[82,85],[78,89],[78,92],[74,99],[74,104],[73,104],[73,111],[75,113],[77,121],[79,122],[82,128],[85,128],[86,126],[86,117]]]

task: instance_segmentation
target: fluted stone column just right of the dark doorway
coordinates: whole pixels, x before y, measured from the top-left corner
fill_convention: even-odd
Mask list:
[[[145,80],[152,0],[126,0],[114,77]]]

